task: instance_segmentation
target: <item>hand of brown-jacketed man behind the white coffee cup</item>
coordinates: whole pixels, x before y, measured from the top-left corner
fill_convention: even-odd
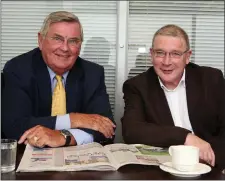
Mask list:
[[[200,159],[204,160],[212,166],[215,165],[215,154],[208,142],[204,141],[198,136],[188,133],[184,144],[198,147],[200,150]]]

